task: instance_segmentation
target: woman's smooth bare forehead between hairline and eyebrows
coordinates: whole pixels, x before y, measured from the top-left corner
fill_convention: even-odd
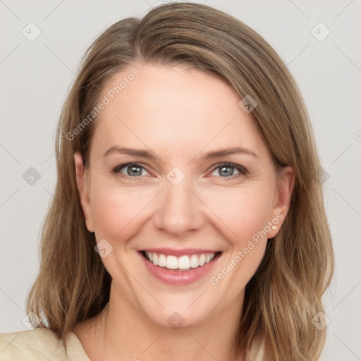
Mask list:
[[[134,68],[137,75],[129,76]],[[185,66],[134,68],[114,75],[104,87],[101,99],[109,104],[96,120],[97,153],[111,145],[189,157],[204,147],[268,152],[252,116],[223,80]]]

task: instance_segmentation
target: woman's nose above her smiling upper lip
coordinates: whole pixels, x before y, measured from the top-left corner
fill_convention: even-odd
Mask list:
[[[183,235],[196,231],[204,224],[204,204],[195,195],[190,180],[174,185],[166,179],[165,189],[158,197],[154,225],[161,231]]]

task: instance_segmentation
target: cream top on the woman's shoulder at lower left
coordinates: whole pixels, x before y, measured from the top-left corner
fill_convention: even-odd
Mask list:
[[[79,338],[69,332],[65,345],[53,331],[39,328],[0,334],[0,361],[90,361]]]

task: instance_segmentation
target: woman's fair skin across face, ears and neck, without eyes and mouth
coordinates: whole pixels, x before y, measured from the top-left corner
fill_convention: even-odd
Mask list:
[[[161,360],[162,355],[174,361],[230,360],[245,286],[262,260],[267,238],[284,221],[293,170],[282,169],[277,186],[271,154],[251,115],[219,78],[185,66],[136,67],[140,74],[96,120],[89,169],[84,171],[82,157],[74,155],[87,228],[97,242],[106,239],[113,247],[102,258],[113,281],[109,305],[73,331],[93,361]],[[130,71],[114,76],[102,97]],[[114,145],[146,149],[156,158],[103,157]],[[231,147],[249,149],[257,157],[202,159]],[[142,175],[112,172],[127,162],[144,166]],[[221,176],[221,168],[213,166],[222,163],[243,166],[247,173],[231,168],[233,176]],[[166,177],[174,166],[185,176],[178,185]],[[212,284],[210,278],[274,219],[276,228],[253,242],[255,247]],[[202,279],[174,286],[145,268],[138,251],[149,247],[207,248],[222,254]],[[180,329],[167,322],[173,312],[184,319]]]

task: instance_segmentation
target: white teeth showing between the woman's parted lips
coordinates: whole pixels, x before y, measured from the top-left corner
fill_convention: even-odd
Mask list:
[[[214,252],[176,257],[173,255],[164,255],[163,253],[147,252],[145,250],[140,251],[140,253],[145,259],[154,264],[154,266],[176,271],[186,271],[188,269],[203,267],[204,264],[212,262],[221,255],[221,252]]]

